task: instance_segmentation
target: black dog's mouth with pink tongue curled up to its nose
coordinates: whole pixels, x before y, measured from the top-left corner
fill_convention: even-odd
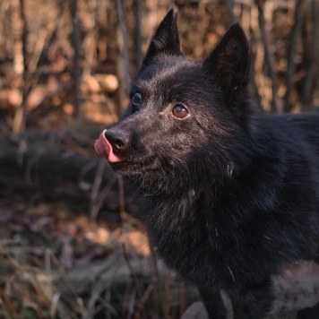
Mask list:
[[[104,130],[101,134],[99,134],[99,139],[95,142],[94,147],[95,151],[100,156],[103,156],[108,160],[112,168],[124,175],[134,175],[142,173],[142,171],[151,166],[151,163],[153,162],[152,157],[132,160],[132,157],[128,158],[116,153],[112,144],[108,142],[108,139],[105,136],[106,132],[107,130]]]

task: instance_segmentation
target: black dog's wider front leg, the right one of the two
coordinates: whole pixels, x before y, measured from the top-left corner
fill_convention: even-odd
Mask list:
[[[264,280],[232,295],[234,319],[263,319],[272,308],[272,280]]]

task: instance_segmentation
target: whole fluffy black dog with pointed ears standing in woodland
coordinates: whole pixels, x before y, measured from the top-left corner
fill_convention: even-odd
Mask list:
[[[319,115],[263,114],[249,69],[238,24],[203,61],[185,57],[173,8],[125,115],[95,145],[145,194],[152,246],[197,285],[210,318],[225,318],[220,290],[235,318],[265,317],[272,275],[319,260]]]

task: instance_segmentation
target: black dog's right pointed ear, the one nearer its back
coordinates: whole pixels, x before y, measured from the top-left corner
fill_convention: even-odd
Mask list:
[[[249,81],[250,48],[244,30],[237,23],[220,40],[220,43],[203,62],[221,88],[228,92],[246,87]]]

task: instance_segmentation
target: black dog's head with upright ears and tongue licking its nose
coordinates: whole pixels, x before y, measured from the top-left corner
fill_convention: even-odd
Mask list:
[[[228,161],[237,162],[235,147],[249,132],[249,65],[249,47],[238,24],[205,60],[185,57],[177,10],[170,10],[132,82],[125,115],[100,135],[96,150],[116,171],[146,188],[174,181],[189,187],[192,176],[201,178],[207,169],[226,174]]]

